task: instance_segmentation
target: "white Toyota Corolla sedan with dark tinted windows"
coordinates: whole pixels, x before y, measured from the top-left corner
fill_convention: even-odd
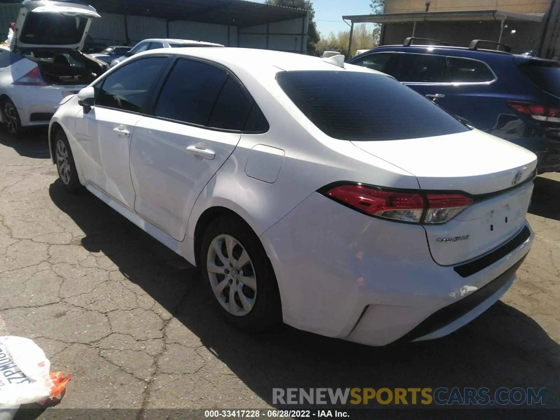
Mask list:
[[[342,56],[141,53],[64,99],[49,142],[64,188],[199,266],[245,330],[442,337],[534,239],[533,153]]]

